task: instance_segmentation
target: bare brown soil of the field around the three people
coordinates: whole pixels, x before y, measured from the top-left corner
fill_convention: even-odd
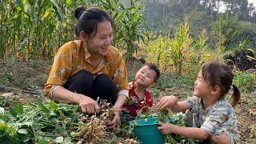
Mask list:
[[[43,96],[43,87],[46,83],[52,62],[45,61],[0,61],[0,103],[2,106],[10,106],[13,100],[19,102],[37,102]],[[140,61],[127,62],[129,81],[134,79],[134,74],[143,64]],[[3,86],[8,86],[6,88]],[[12,90],[10,90],[10,88]],[[26,92],[22,92],[26,90]],[[191,90],[178,88],[166,88],[161,95],[172,93],[187,95]],[[30,91],[30,94],[27,93]],[[157,102],[158,98],[155,98]],[[238,137],[241,143],[256,143],[256,94],[242,94],[242,100],[235,107],[238,118]]]

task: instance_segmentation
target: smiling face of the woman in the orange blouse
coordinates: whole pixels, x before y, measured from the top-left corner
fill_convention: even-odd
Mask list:
[[[92,37],[83,38],[91,56],[104,56],[108,54],[109,46],[113,42],[113,30],[109,21],[100,22],[97,32]]]

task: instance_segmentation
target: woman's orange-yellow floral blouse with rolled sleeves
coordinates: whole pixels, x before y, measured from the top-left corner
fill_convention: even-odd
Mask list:
[[[102,58],[96,68],[91,65],[89,58],[90,53],[81,40],[66,42],[55,54],[50,76],[44,89],[46,95],[52,98],[51,91],[55,86],[64,86],[70,76],[79,70],[87,70],[94,76],[107,74],[116,83],[118,94],[128,96],[126,64],[117,48],[110,46],[109,53]]]

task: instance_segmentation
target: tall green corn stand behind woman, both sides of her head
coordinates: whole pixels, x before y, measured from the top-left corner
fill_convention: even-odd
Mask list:
[[[117,23],[114,45],[126,50],[127,58],[137,50],[136,41],[143,40],[143,6],[119,0],[17,0],[0,1],[0,59],[52,58],[65,42],[74,40],[74,10],[77,6],[99,6],[107,10]]]

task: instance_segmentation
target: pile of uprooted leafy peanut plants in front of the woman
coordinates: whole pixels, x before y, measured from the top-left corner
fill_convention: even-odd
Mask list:
[[[106,122],[113,118],[114,110],[104,100],[99,103],[101,113],[90,116],[82,114],[79,106],[65,103],[17,103],[0,114],[0,143],[107,142]],[[115,142],[130,142],[130,138]]]

